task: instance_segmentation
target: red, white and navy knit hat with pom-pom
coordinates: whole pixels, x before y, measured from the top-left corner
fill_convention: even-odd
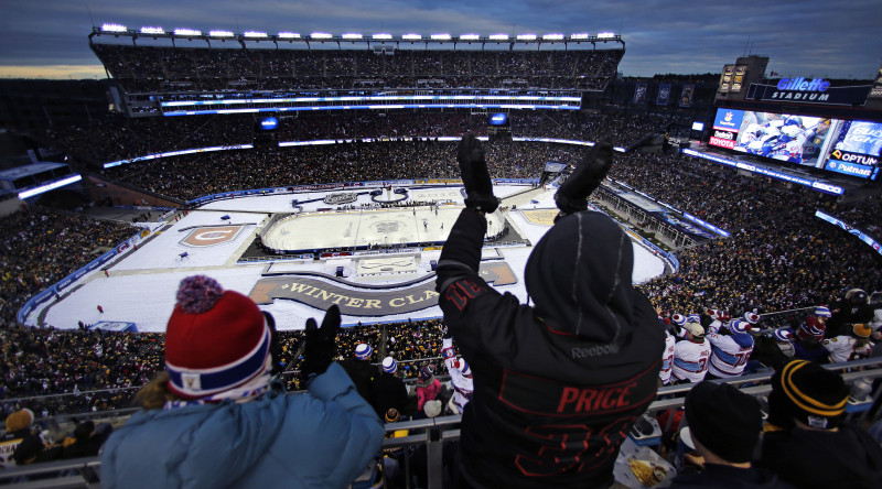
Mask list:
[[[200,399],[240,387],[265,372],[270,338],[254,301],[208,276],[189,276],[165,332],[169,389]]]

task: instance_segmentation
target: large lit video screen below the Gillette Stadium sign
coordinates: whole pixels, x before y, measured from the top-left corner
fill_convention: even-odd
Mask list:
[[[720,108],[709,144],[875,180],[882,123]]]

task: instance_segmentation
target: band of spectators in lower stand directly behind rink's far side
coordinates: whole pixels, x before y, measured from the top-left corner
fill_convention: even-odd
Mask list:
[[[224,151],[116,166],[105,175],[185,200],[223,192],[315,183],[458,178],[455,145],[423,140]],[[530,178],[541,173],[546,162],[573,161],[578,152],[578,146],[566,144],[499,141],[487,144],[487,161],[492,176]]]

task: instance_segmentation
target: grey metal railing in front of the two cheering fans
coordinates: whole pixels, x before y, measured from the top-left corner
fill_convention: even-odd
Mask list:
[[[840,372],[848,384],[853,384],[858,380],[882,378],[882,357],[825,365],[824,367],[828,370]],[[729,380],[728,383],[738,387],[742,392],[750,395],[764,399],[772,391],[771,378],[772,372],[767,371],[738,377]],[[714,382],[721,381],[717,380]],[[649,404],[647,414],[653,415],[663,411],[673,412],[682,408],[686,394],[693,385],[688,383],[660,388],[657,399]],[[882,417],[882,412],[880,412],[882,410],[872,412],[871,406],[880,402],[881,395],[882,383],[872,389],[863,399],[850,398],[846,410],[847,421],[859,425],[879,421]],[[668,416],[668,420],[673,419],[674,416]],[[459,441],[460,422],[461,416],[453,415],[386,424],[387,438],[383,442],[383,450],[397,452],[407,488],[413,487],[412,448],[421,446],[426,447],[428,489],[441,488],[444,468],[443,447],[445,443]],[[677,426],[668,425],[663,430],[676,428]],[[407,432],[407,434],[392,437],[396,432]],[[633,435],[634,432],[632,431]],[[380,458],[378,457],[377,460],[380,460]],[[380,463],[377,461],[377,464]],[[13,486],[11,487],[20,488],[100,488],[100,459],[97,457],[82,458],[0,470],[0,485],[6,483],[12,483]]]

